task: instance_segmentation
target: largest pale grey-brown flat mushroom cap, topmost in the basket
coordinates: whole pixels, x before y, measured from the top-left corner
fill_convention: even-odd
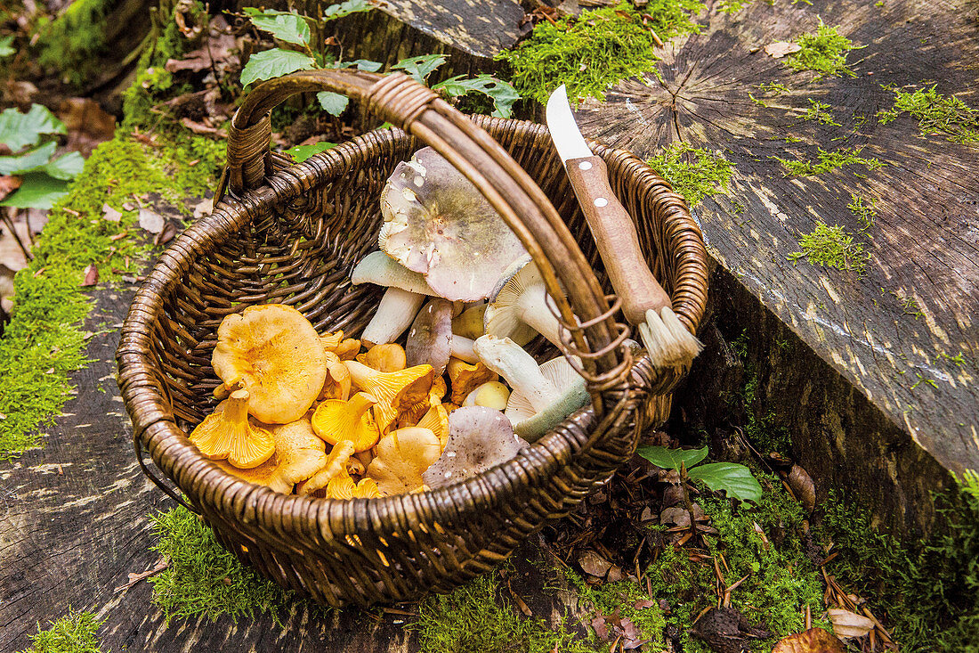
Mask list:
[[[397,165],[381,212],[381,249],[445,299],[488,297],[500,274],[527,256],[476,186],[431,147]]]

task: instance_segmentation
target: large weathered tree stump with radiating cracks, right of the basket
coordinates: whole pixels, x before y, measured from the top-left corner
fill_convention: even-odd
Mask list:
[[[694,209],[709,252],[884,418],[827,405],[820,424],[798,425],[794,453],[814,477],[851,486],[864,477],[878,503],[913,512],[912,497],[927,500],[927,487],[947,482],[931,457],[956,474],[979,469],[979,142],[953,142],[941,125],[922,133],[908,113],[884,124],[878,112],[895,103],[884,86],[936,85],[979,108],[975,5],[779,1],[728,14],[731,3],[707,4],[702,33],[668,43],[656,73],[623,81],[606,104],[585,103],[579,122],[643,157],[671,143],[723,151],[734,164],[729,192]],[[766,52],[820,19],[852,39],[852,73],[820,78]],[[971,121],[979,129],[979,112]],[[789,176],[776,159],[842,148],[884,165]],[[876,201],[872,225],[848,208],[855,197]],[[790,262],[817,222],[854,234],[869,253],[864,274]],[[763,322],[747,324],[748,335],[762,336]],[[805,408],[812,386],[797,377],[776,411]],[[855,460],[858,451],[869,458]]]

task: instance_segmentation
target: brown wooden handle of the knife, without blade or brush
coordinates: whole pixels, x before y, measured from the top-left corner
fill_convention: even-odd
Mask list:
[[[632,219],[609,185],[605,162],[595,156],[569,159],[566,168],[623,313],[630,324],[640,325],[648,309],[659,313],[670,306],[670,296],[646,265]]]

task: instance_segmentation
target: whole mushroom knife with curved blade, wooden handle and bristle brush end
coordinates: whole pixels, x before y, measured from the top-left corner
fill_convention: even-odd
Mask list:
[[[605,162],[591,153],[571,113],[564,84],[547,100],[547,128],[595,238],[629,323],[639,326],[657,365],[686,366],[700,342],[676,319],[670,296],[649,270],[629,213],[609,185]],[[652,346],[651,346],[652,345]]]

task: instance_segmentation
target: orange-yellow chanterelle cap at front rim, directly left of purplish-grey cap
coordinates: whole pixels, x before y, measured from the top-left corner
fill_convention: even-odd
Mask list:
[[[442,443],[428,428],[398,428],[381,438],[375,453],[367,477],[384,494],[403,494],[423,484],[422,473],[438,460]]]

